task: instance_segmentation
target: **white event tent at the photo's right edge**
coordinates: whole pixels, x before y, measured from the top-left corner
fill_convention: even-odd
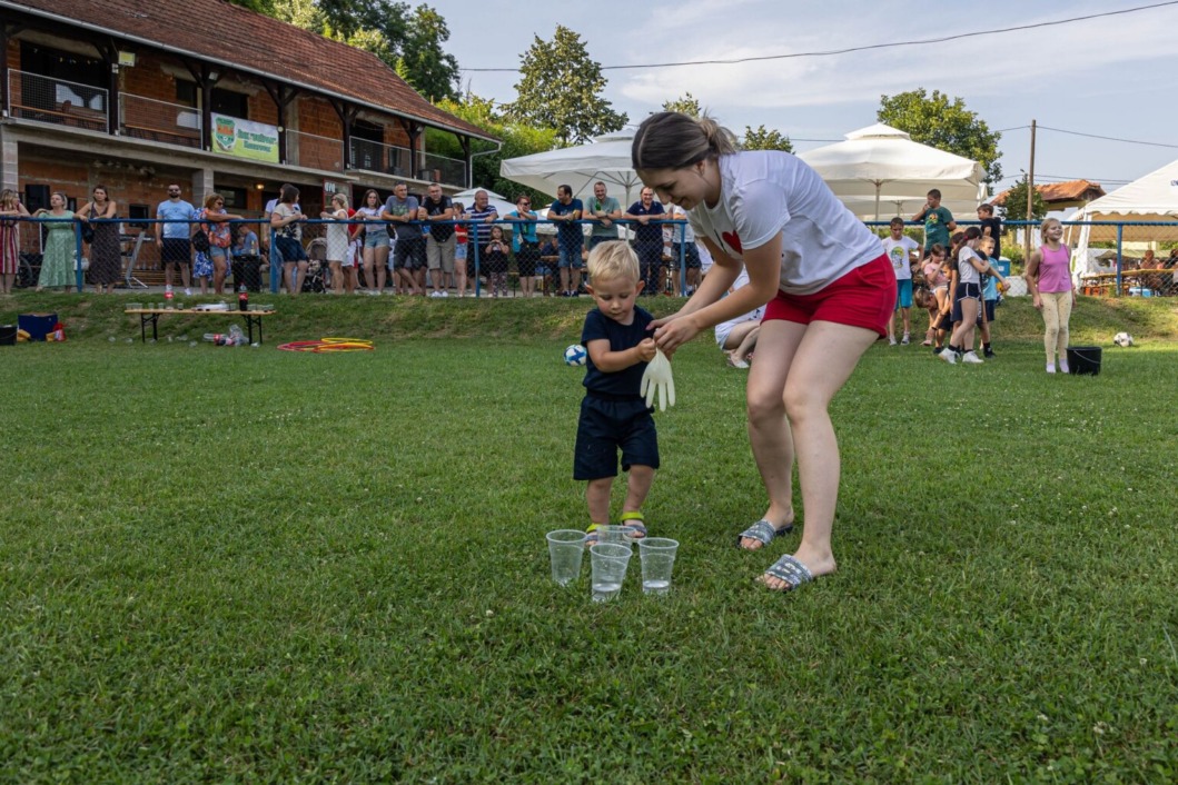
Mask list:
[[[1160,169],[1133,180],[1126,186],[1093,199],[1076,211],[1070,221],[1134,221],[1141,224],[1178,222],[1178,160],[1171,161]],[[1074,246],[1073,260],[1087,260],[1088,244],[1098,241],[1116,241],[1116,226],[1068,226],[1065,242]],[[1176,227],[1166,229],[1156,226],[1125,226],[1121,240],[1125,242],[1143,242],[1157,240],[1166,234],[1174,234]],[[1169,237],[1169,235],[1167,235]],[[1091,267],[1091,261],[1084,265]],[[1081,266],[1073,262],[1073,268]],[[1090,272],[1090,270],[1076,270]]]

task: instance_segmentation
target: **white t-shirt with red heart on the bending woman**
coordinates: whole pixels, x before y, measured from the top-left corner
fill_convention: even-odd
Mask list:
[[[690,211],[696,237],[733,259],[781,235],[780,288],[813,294],[881,254],[880,240],[803,161],[780,151],[720,157],[720,201]]]

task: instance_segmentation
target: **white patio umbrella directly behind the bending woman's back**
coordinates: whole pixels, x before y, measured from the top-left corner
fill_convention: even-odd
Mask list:
[[[876,124],[847,134],[846,141],[799,153],[834,195],[863,220],[909,218],[932,188],[951,213],[974,218],[986,200],[986,173],[968,158],[912,141],[898,128]]]

